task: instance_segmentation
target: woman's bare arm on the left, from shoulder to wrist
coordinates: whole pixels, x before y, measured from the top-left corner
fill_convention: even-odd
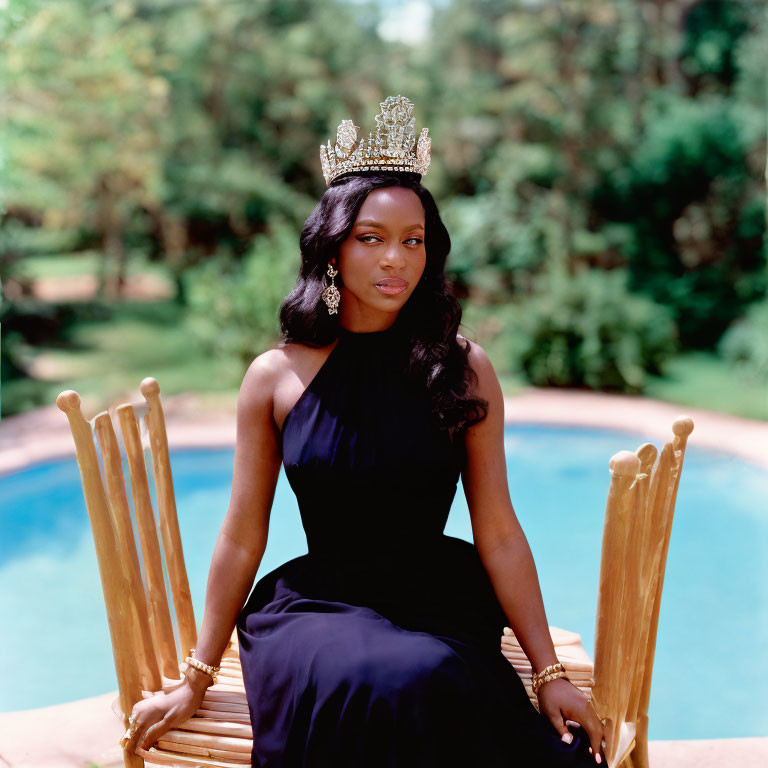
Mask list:
[[[216,666],[253,586],[267,546],[269,515],[280,473],[273,393],[280,353],[259,355],[243,377],[237,399],[232,495],[213,551],[195,657]],[[210,677],[201,673],[200,677]],[[206,684],[205,680],[202,682]]]

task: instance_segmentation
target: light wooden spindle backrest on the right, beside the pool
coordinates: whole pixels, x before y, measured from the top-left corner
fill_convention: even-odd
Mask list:
[[[661,453],[644,443],[608,464],[595,623],[592,699],[605,719],[606,758],[647,768],[648,702],[677,489],[693,421],[681,416]],[[634,748],[633,748],[634,747]]]

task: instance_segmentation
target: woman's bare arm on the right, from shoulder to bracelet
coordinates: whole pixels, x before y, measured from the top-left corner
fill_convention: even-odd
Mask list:
[[[477,374],[475,394],[488,401],[488,415],[469,427],[462,485],[480,558],[515,636],[535,671],[557,661],[544,611],[536,565],[509,498],[504,455],[504,398],[491,361],[471,343],[469,363]]]

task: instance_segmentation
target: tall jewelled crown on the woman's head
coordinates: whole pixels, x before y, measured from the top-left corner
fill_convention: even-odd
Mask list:
[[[326,186],[350,171],[410,171],[424,176],[429,168],[432,139],[428,128],[421,129],[418,143],[413,102],[405,96],[387,96],[379,105],[376,131],[358,139],[360,126],[342,120],[336,131],[336,146],[320,145],[320,164]],[[415,150],[414,150],[415,144]]]

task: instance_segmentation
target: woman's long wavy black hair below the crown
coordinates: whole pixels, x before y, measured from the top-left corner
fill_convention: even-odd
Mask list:
[[[477,376],[468,362],[469,341],[461,343],[456,338],[461,305],[450,293],[444,271],[451,240],[419,174],[378,171],[334,179],[301,231],[301,269],[296,285],[280,305],[283,343],[321,347],[338,337],[339,316],[329,315],[321,298],[328,284],[328,263],[333,257],[338,262],[339,245],[352,231],[370,192],[394,186],[412,189],[424,206],[427,257],[424,273],[395,322],[409,339],[411,383],[431,402],[434,423],[454,440],[485,418],[488,401],[471,394]],[[340,273],[335,280],[337,286],[343,286]]]

